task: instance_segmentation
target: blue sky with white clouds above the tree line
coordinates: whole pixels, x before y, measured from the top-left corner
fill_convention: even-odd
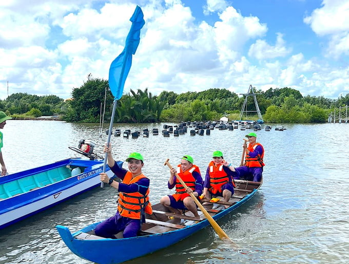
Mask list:
[[[146,24],[124,92],[245,93],[290,87],[349,93],[349,2],[343,0],[12,0],[0,3],[0,99],[71,96],[108,79],[136,5]],[[8,81],[8,92],[7,92]]]

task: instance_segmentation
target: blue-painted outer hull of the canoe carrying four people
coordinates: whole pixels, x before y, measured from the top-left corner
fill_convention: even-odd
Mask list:
[[[228,209],[220,211],[220,213],[212,216],[212,218],[217,220],[231,213],[251,199],[256,194],[258,188],[251,190],[241,200],[235,202]],[[57,225],[56,228],[67,247],[75,255],[96,263],[110,264],[121,263],[167,248],[207,227],[210,223],[205,219],[192,225],[186,225],[182,229],[132,238],[110,239],[89,237],[90,235],[87,233],[92,231],[97,224],[93,223],[75,233],[71,233],[67,227],[62,225]],[[82,236],[85,236],[86,239],[82,239]]]

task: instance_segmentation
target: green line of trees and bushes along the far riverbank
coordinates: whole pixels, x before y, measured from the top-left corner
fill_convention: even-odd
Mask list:
[[[337,100],[303,97],[293,88],[254,88],[263,120],[273,123],[322,123],[334,108],[349,104],[349,93]],[[249,99],[249,98],[248,98]],[[219,120],[222,116],[238,119],[245,98],[227,89],[211,88],[177,94],[162,91],[153,96],[148,88],[130,90],[117,101],[115,123],[181,122]],[[8,115],[25,119],[58,115],[67,122],[110,121],[114,98],[108,81],[91,79],[81,87],[73,88],[71,99],[64,101],[54,96],[36,96],[14,93],[0,100],[0,110]],[[249,111],[255,111],[255,102],[247,100]],[[257,117],[245,117],[254,120]]]

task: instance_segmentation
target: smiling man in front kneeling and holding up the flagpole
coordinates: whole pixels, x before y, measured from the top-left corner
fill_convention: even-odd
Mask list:
[[[119,206],[114,216],[95,227],[94,233],[106,238],[135,237],[141,230],[142,223],[145,222],[144,213],[152,214],[148,197],[149,179],[142,173],[143,157],[137,152],[131,153],[126,159],[129,169],[127,171],[114,161],[111,156],[111,147],[105,146],[104,152],[108,153],[107,162],[111,171],[123,182],[109,179],[106,173],[101,173],[101,181],[120,192]],[[123,232],[123,236],[115,236],[119,232]]]

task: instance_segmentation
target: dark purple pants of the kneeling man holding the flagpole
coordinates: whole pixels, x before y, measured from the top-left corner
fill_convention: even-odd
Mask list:
[[[115,234],[120,231],[124,231],[124,238],[135,237],[138,231],[141,229],[141,220],[131,219],[128,217],[123,217],[119,214],[119,211],[112,217],[99,223],[95,229],[94,233],[97,236],[105,238],[115,238]]]

